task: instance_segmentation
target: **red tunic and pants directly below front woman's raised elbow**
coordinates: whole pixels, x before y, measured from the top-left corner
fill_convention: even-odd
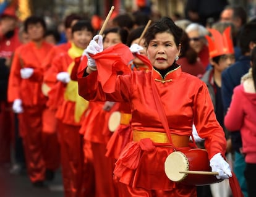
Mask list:
[[[95,170],[96,196],[117,196],[114,186],[114,159],[106,157],[106,144],[113,134],[108,128],[109,115],[117,111],[119,103],[114,104],[110,111],[103,109],[105,102],[90,102],[90,109],[83,122],[80,132],[92,148],[93,168]],[[84,149],[85,156],[87,149]]]

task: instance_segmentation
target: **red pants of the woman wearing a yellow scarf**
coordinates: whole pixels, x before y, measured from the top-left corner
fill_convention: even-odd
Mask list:
[[[82,135],[80,126],[59,122],[59,141],[61,145],[61,166],[65,197],[79,197],[85,192]]]

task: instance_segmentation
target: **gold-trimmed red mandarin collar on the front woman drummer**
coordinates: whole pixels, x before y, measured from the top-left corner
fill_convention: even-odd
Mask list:
[[[153,79],[156,82],[166,83],[166,82],[171,82],[173,81],[174,78],[179,77],[181,75],[181,71],[182,71],[181,66],[179,65],[179,67],[177,67],[176,69],[170,70],[168,73],[166,73],[163,78],[160,72],[158,72],[153,68],[152,75],[153,75]]]

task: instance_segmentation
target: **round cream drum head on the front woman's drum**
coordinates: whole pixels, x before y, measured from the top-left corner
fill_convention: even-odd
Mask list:
[[[187,177],[187,174],[179,173],[180,171],[189,170],[189,161],[185,154],[176,151],[166,158],[164,162],[164,171],[169,180],[181,182]]]

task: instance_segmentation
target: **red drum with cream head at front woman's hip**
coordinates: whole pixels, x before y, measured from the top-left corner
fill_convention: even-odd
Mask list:
[[[174,151],[166,158],[164,170],[170,180],[186,185],[210,185],[222,181],[212,174],[206,149]],[[192,174],[183,173],[186,171]]]

